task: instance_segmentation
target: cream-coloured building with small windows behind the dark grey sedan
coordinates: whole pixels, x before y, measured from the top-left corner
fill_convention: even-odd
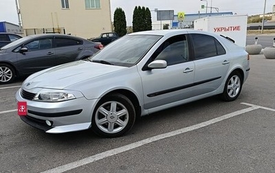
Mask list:
[[[111,32],[110,0],[18,0],[25,35],[62,33],[91,38]]]

